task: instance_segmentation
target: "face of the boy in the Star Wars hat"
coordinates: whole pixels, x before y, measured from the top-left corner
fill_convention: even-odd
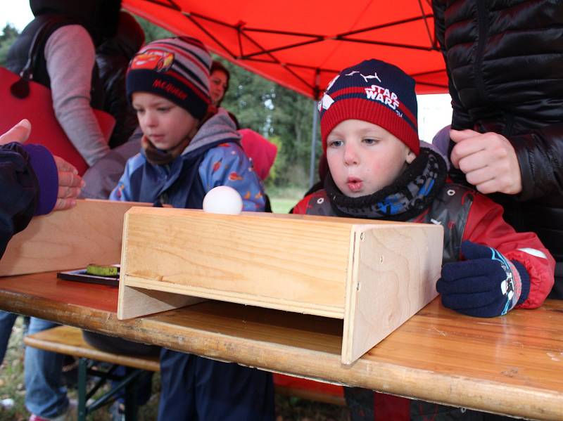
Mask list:
[[[389,186],[415,154],[376,124],[345,120],[327,136],[327,160],[334,183],[344,195],[371,195]]]

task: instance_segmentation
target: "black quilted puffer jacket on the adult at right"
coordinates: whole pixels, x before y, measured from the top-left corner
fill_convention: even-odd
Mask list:
[[[538,233],[559,263],[561,281],[563,1],[433,0],[433,7],[452,127],[495,131],[512,143],[522,191],[493,199],[514,228]],[[452,176],[460,181],[459,173]]]

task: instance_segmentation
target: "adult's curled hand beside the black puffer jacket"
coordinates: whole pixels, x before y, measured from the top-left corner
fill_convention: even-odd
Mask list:
[[[518,157],[505,136],[466,129],[450,130],[450,138],[457,143],[450,161],[477,190],[483,194],[521,192]]]

